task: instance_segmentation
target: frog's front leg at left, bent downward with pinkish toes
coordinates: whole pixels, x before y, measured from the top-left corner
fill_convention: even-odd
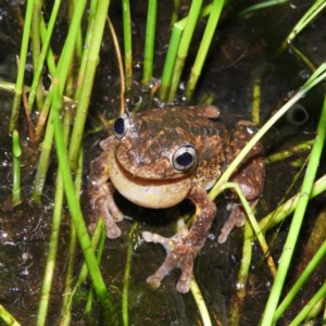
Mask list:
[[[109,138],[110,140],[110,138]],[[105,145],[111,145],[108,141]],[[102,146],[103,148],[103,146]],[[91,162],[90,174],[88,178],[88,196],[92,209],[92,221],[89,224],[89,229],[92,231],[98,217],[104,220],[108,238],[117,238],[121,236],[121,229],[116,226],[116,222],[124,218],[123,213],[116,206],[113,193],[114,186],[109,180],[108,156],[109,148],[103,148],[102,154]]]

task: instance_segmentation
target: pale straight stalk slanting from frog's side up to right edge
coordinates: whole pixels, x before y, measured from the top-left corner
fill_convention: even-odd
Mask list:
[[[253,146],[260,141],[260,139],[273,127],[273,125],[302,97],[304,97],[310,89],[316,86],[326,77],[326,63],[319,65],[319,67],[311,75],[305,82],[301,89],[287,102],[285,103],[263,126],[262,128],[250,139],[250,141],[243,147],[230,165],[226,168],[223,175],[220,177],[215,186],[211,189],[211,198],[216,198],[221,192],[221,187],[225,184],[231,174],[235,172],[237,166],[250,152]]]

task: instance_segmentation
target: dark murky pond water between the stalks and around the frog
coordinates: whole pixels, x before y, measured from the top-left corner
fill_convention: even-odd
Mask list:
[[[155,77],[161,76],[170,35],[168,23],[173,10],[173,1],[159,2]],[[239,11],[246,8],[249,2],[239,1],[239,4],[234,2],[233,5],[226,8],[215,33],[197,92],[191,101],[191,104],[198,104],[204,98],[211,98],[213,104],[221,110],[222,122],[228,127],[233,126],[236,121],[251,120],[252,89],[256,78],[261,79],[260,110],[262,124],[290,97],[292,91],[304,83],[310,74],[309,68],[293,51],[285,50],[277,53],[277,49],[313,1],[291,1],[277,8],[240,16]],[[139,82],[141,73],[146,8],[146,1],[133,3],[131,5],[136,82]],[[187,4],[184,4],[181,12],[186,11]],[[110,15],[120,39],[123,35],[121,14],[120,3],[112,3]],[[8,2],[0,0],[0,79],[15,82],[16,55],[20,52],[23,16],[24,3],[22,1]],[[191,68],[197,52],[196,40],[201,36],[204,22],[205,20],[202,20],[199,23],[198,35],[196,35],[195,42],[191,45],[189,60],[183,77],[184,82]],[[296,40],[298,48],[310,58],[315,66],[325,61],[325,28],[326,21],[316,20]],[[60,41],[64,38],[65,32],[65,11],[62,9],[55,32],[58,37],[53,42],[54,52],[59,52]],[[29,85],[30,62],[27,68],[29,71],[26,74],[26,84]],[[87,123],[88,131],[100,125],[99,114],[105,117],[116,116],[118,105],[117,78],[116,61],[112,54],[110,36],[106,35],[103,40],[101,62],[91,100],[91,111]],[[301,106],[293,116],[288,115],[277,123],[263,139],[266,156],[299,141],[313,139],[322,100],[323,90],[317,88],[300,101]],[[133,106],[138,101],[141,101],[142,109],[149,105],[148,93],[142,92],[141,87],[135,83],[135,89],[129,97],[129,105]],[[24,201],[17,206],[12,206],[12,150],[11,137],[8,134],[12,95],[1,91],[0,102],[0,304],[5,306],[22,325],[35,325],[40,286],[43,278],[42,272],[49,246],[55,184],[55,155],[53,153],[42,203],[37,205],[32,202],[30,197],[38,155],[28,142],[24,124],[21,124],[20,133],[23,148],[21,162],[22,191]],[[158,103],[159,101],[154,100],[154,102]],[[176,103],[185,104],[181,90]],[[90,215],[85,187],[89,163],[99,154],[98,140],[105,138],[105,131],[88,133],[88,136],[85,137],[85,183],[82,196],[86,218]],[[284,198],[305,156],[306,153],[296,154],[290,159],[267,165],[264,193],[258,206],[259,218],[265,216]],[[299,166],[294,164],[296,162]],[[293,189],[287,195],[288,197],[296,192],[298,185],[294,185]],[[129,285],[130,325],[202,325],[192,296],[190,293],[179,294],[175,290],[179,276],[178,271],[173,271],[168,277],[165,277],[161,287],[156,290],[149,288],[146,284],[147,277],[165,259],[165,252],[159,244],[143,242],[141,233],[151,230],[162,235],[171,235],[171,225],[176,215],[175,211],[139,209],[120,196],[117,196],[117,202],[123,208],[124,213],[133,218],[127,218],[121,224],[123,235],[120,239],[106,240],[101,268],[106,284],[112,289],[116,304],[121,306],[128,231],[131,223],[137,221],[139,227],[134,236]],[[222,325],[228,325],[230,302],[237,290],[243,230],[242,228],[234,229],[228,240],[223,244],[218,244],[216,237],[228,215],[223,197],[217,199],[217,218],[215,218],[210,237],[196,259],[195,275],[208,304],[213,325],[221,325],[217,323],[218,319]],[[306,231],[312,228],[315,216],[318,215],[322,206],[323,200],[317,199],[314,206],[309,210]],[[192,211],[191,205],[188,203],[183,203],[178,209],[187,213]],[[62,259],[59,260],[55,269],[55,281],[51,293],[52,301],[47,325],[57,325],[63,294],[70,230],[68,211],[64,211],[63,214],[65,218],[61,228],[60,243],[60,256]],[[287,225],[286,222],[283,228],[279,229],[279,235],[273,241],[271,248],[276,262],[283,248]],[[271,235],[272,237],[273,235]],[[304,235],[302,239],[305,239]],[[298,261],[300,261],[302,250],[300,246]],[[80,262],[82,255],[78,256],[76,266],[79,266]],[[296,264],[297,260],[293,262],[293,266]],[[294,273],[293,271],[293,275]],[[296,301],[297,305],[284,317],[280,325],[288,324],[291,314],[298,313],[302,306],[300,301],[306,300],[316,290],[318,281],[325,279],[325,271],[318,273],[319,277],[315,277],[315,284],[312,283],[311,288],[300,294],[300,298]],[[293,275],[290,275],[290,279]],[[272,276],[263,262],[260,247],[254,242],[248,292],[240,325],[259,324],[272,281]],[[87,290],[87,286],[85,286],[85,290]],[[80,304],[80,306],[76,305],[74,310],[72,325],[101,325],[101,323],[97,314],[83,317],[83,305]]]

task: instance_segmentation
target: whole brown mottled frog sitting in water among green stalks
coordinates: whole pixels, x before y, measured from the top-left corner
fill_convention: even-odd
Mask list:
[[[88,195],[95,220],[90,229],[97,216],[102,216],[109,238],[120,237],[116,223],[124,218],[113,199],[115,190],[145,208],[170,208],[184,199],[196,205],[189,230],[172,238],[142,234],[146,241],[171,248],[164,263],[147,280],[155,287],[171,269],[179,267],[177,290],[189,290],[193,260],[216,214],[216,205],[206,190],[254,134],[252,124],[246,121],[228,131],[216,121],[220,111],[213,105],[126,112],[115,120],[114,135],[100,142],[103,152],[91,163]],[[258,143],[231,176],[251,206],[261,196],[264,175],[263,149]],[[218,237],[221,243],[235,225],[241,226],[246,220],[235,196],[230,197],[229,206],[230,215]]]

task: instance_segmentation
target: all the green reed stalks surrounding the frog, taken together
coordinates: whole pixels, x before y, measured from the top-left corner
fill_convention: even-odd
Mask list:
[[[90,238],[87,230],[88,221],[84,216],[86,210],[80,199],[84,187],[83,168],[85,166],[83,140],[88,134],[93,133],[93,130],[89,130],[85,126],[87,120],[92,115],[92,113],[89,113],[90,103],[92,92],[97,88],[96,77],[100,63],[106,60],[111,61],[111,65],[114,66],[114,73],[116,73],[114,78],[120,77],[121,91],[118,95],[114,95],[115,98],[120,99],[120,112],[124,112],[126,108],[138,110],[138,108],[131,106],[133,98],[139,89],[142,91],[142,97],[146,98],[143,106],[151,106],[152,103],[162,106],[174,103],[184,105],[187,103],[197,104],[198,98],[196,95],[199,80],[202,78],[202,71],[205,67],[212,47],[218,47],[214,36],[218,33],[218,26],[223,23],[223,20],[228,15],[238,14],[239,20],[246,20],[247,15],[259,15],[261,11],[287,5],[287,1],[264,1],[252,7],[248,3],[246,8],[242,5],[238,9],[236,1],[231,2],[231,4],[224,0],[213,0],[209,4],[204,4],[203,1],[199,0],[188,2],[185,5],[181,1],[174,1],[167,23],[171,24],[171,34],[164,39],[164,41],[168,40],[167,49],[158,49],[156,34],[160,28],[163,28],[158,23],[158,15],[160,14],[158,10],[159,3],[156,0],[148,1],[147,23],[142,32],[145,35],[142,71],[139,74],[135,59],[139,59],[139,53],[133,53],[134,42],[137,42],[133,38],[134,27],[131,23],[133,17],[136,15],[133,12],[133,9],[136,11],[136,4],[133,5],[128,0],[121,1],[122,16],[118,20],[121,21],[122,30],[117,33],[116,30],[118,29],[114,26],[116,17],[115,20],[111,17],[110,7],[112,3],[109,0],[72,0],[65,4],[61,3],[60,0],[55,0],[51,2],[51,5],[40,0],[26,1],[16,80],[14,85],[13,83],[8,83],[8,80],[0,83],[2,89],[13,93],[9,129],[4,130],[1,128],[1,133],[12,135],[12,193],[10,200],[13,209],[18,208],[26,199],[33,199],[35,203],[41,204],[42,200],[45,200],[45,187],[51,162],[58,162],[55,167],[55,189],[52,191],[54,193],[51,192],[51,196],[53,196],[51,235],[49,244],[45,249],[48,251],[46,254],[47,262],[43,263],[43,283],[38,296],[37,325],[52,324],[53,321],[58,322],[59,319],[58,324],[68,325],[72,323],[74,304],[79,310],[82,310],[80,306],[83,305],[83,314],[85,316],[91,315],[92,311],[100,310],[101,318],[105,321],[105,325],[128,325],[130,319],[128,315],[130,303],[128,296],[131,292],[130,273],[133,268],[133,253],[136,250],[136,244],[134,246],[133,241],[135,241],[137,236],[138,223],[134,222],[134,225],[130,227],[128,244],[124,248],[127,251],[126,269],[123,277],[124,286],[121,289],[116,289],[108,284],[100,266],[105,242],[103,223],[101,220],[99,221]],[[323,164],[321,164],[326,135],[325,84],[322,84],[326,77],[326,62],[319,63],[309,59],[309,55],[300,49],[300,43],[296,43],[296,37],[304,29],[311,28],[313,20],[317,20],[321,13],[325,14],[325,0],[314,1],[311,8],[305,8],[305,13],[299,17],[298,23],[293,25],[293,29],[287,30],[288,36],[285,39],[277,40],[278,49],[275,51],[275,57],[290,52],[293,61],[301,61],[304,70],[308,72],[308,76],[300,88],[291,92],[291,96],[287,97],[285,103],[278,105],[279,109],[269,114],[268,118],[265,118],[266,122],[264,124],[260,123],[260,120],[262,120],[260,118],[260,108],[263,76],[255,75],[254,87],[250,91],[254,95],[252,116],[256,124],[260,123],[260,130],[226,168],[223,176],[210,191],[210,197],[216,199],[225,189],[236,187],[249,217],[244,226],[237,291],[229,299],[227,319],[230,325],[244,325],[240,321],[241,316],[246,315],[244,306],[247,297],[249,297],[250,267],[253,264],[252,243],[255,239],[261,246],[262,263],[266,264],[266,271],[271,273],[269,279],[272,284],[271,293],[264,297],[264,309],[256,312],[256,314],[260,314],[261,325],[264,326],[276,325],[283,318],[285,312],[292,309],[291,302],[294,297],[299,294],[302,287],[304,289],[304,286],[309,284],[310,276],[318,268],[321,262],[325,261],[325,204],[322,212],[318,212],[318,217],[314,220],[315,224],[311,231],[309,235],[305,235],[308,240],[301,239],[300,233],[302,233],[302,222],[308,215],[308,208],[311,205],[313,198],[323,192],[325,193],[326,190],[326,178],[323,175],[325,168],[323,171]],[[64,33],[64,41],[62,45],[59,45],[60,50],[58,50],[54,37],[55,33],[58,33],[55,32],[55,24],[59,24],[59,21],[62,20],[60,10],[65,11],[64,16],[67,29]],[[164,29],[170,32],[168,26],[164,26]],[[110,37],[105,38],[105,35],[110,35]],[[109,59],[103,58],[101,52],[108,38],[112,42]],[[120,45],[123,45],[122,51]],[[193,51],[192,49],[196,50]],[[158,57],[155,51],[164,52],[164,55],[162,55],[163,65],[155,62],[155,57]],[[123,57],[121,52],[123,52]],[[28,58],[29,54],[32,60]],[[27,83],[26,72],[28,71],[27,63],[29,61],[33,63],[33,77]],[[208,65],[205,68],[209,70],[210,66]],[[241,76],[238,78],[241,78]],[[306,152],[311,149],[306,161],[301,164],[303,167],[301,168],[300,178],[298,177],[300,181],[297,180],[300,185],[297,184],[294,187],[296,191],[290,191],[292,197],[286,193],[287,196],[279,200],[278,208],[269,212],[264,218],[256,221],[254,212],[250,210],[240,189],[237,188],[237,185],[228,183],[228,179],[254,143],[265,135],[268,135],[268,131],[277,125],[281,117],[299,100],[308,97],[316,88],[322,92],[324,102],[321,108],[316,109],[319,116],[315,117],[317,126],[314,130],[315,133],[309,139],[310,142],[306,143],[306,139],[302,140],[302,143],[298,141],[292,148],[287,149],[286,153],[281,149],[277,149],[275,150],[278,154],[277,159],[275,159],[275,153],[273,158],[266,159],[266,162],[273,164],[271,162],[286,160],[296,151]],[[289,92],[290,89],[287,91]],[[283,100],[285,99],[280,98],[278,102]],[[116,114],[118,112],[111,112],[110,117]],[[101,116],[100,120],[105,127],[108,124],[106,121],[104,122],[105,118]],[[99,125],[100,123],[98,122],[97,126]],[[27,139],[27,145],[24,141],[25,147],[23,149],[20,147],[20,138],[22,141],[22,137]],[[23,180],[20,168],[26,148],[28,148],[28,151],[33,151],[38,159],[33,193],[28,193],[28,198],[24,198],[26,193],[21,189]],[[267,174],[266,178],[268,177],[271,176]],[[51,289],[55,277],[55,268],[58,268],[55,266],[61,266],[59,248],[63,246],[61,243],[61,225],[66,223],[63,221],[65,202],[72,218],[70,240],[65,241],[70,242],[68,260],[64,271],[61,272],[62,274],[65,273],[65,281],[62,286],[63,299],[60,302],[61,309],[58,309],[55,312],[58,315],[52,316],[51,322],[48,322],[50,302],[53,300],[51,299]],[[281,239],[284,244],[281,244],[283,248],[279,250],[281,252],[274,253],[275,237],[280,233],[283,223],[289,217],[291,217],[291,222],[285,227],[286,234]],[[2,233],[3,230],[0,229],[0,231]],[[298,241],[306,242],[306,247],[303,246],[302,250],[308,250],[309,248],[310,261],[300,265],[298,274],[294,275],[296,280],[293,285],[289,286],[286,284],[286,280],[293,268],[291,264],[298,248]],[[83,251],[84,265],[82,267],[80,264],[76,263],[77,259],[80,259],[77,254],[77,246]],[[312,246],[312,248],[309,246]],[[76,271],[78,271],[77,276]],[[291,277],[293,277],[293,273]],[[88,278],[89,287],[87,287],[88,292],[85,294],[86,290],[84,287]],[[213,314],[210,308],[206,306],[209,299],[205,298],[204,292],[201,292],[200,284],[197,284],[195,278],[191,284],[191,292],[201,315],[201,322],[198,322],[198,324],[220,325],[222,316]],[[288,325],[301,325],[304,321],[322,321],[323,316],[325,321],[326,312],[323,311],[323,309],[325,310],[325,296],[326,284],[322,274],[319,288],[312,293],[303,308],[300,306],[301,311],[298,308],[291,310],[291,321],[287,322]],[[250,300],[253,302],[252,298]],[[0,318],[7,325],[20,325],[15,321],[15,314],[11,311],[12,306],[9,305],[8,302],[2,305],[0,301]],[[121,308],[122,313],[120,311]],[[90,319],[92,318],[97,318],[97,313],[93,313]],[[20,319],[18,316],[16,319]],[[22,325],[25,324],[24,321],[20,322]],[[130,324],[133,324],[133,321],[130,321]]]

